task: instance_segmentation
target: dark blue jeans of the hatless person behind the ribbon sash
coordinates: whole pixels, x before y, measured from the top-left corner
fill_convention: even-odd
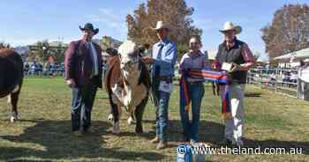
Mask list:
[[[201,99],[204,96],[204,85],[197,84],[191,85],[188,84],[188,92],[191,98],[191,110],[192,110],[192,122],[189,119],[189,112],[185,111],[185,101],[180,98],[180,117],[184,129],[184,140],[192,140],[194,142],[198,141],[198,129],[200,122],[200,104]]]

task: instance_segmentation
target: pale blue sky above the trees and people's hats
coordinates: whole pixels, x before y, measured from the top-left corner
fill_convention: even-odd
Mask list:
[[[2,0],[0,5],[0,41],[13,46],[26,45],[38,40],[64,40],[80,38],[79,26],[92,22],[100,28],[95,35],[126,39],[125,16],[146,0]],[[243,27],[238,35],[252,51],[265,57],[260,28],[271,22],[274,12],[284,4],[309,4],[309,0],[186,0],[195,9],[193,25],[203,29],[203,49],[216,50],[222,42],[225,21]]]

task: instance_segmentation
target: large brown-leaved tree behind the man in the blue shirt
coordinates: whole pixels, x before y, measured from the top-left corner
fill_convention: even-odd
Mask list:
[[[139,4],[133,15],[127,15],[128,37],[140,44],[153,45],[158,38],[152,27],[162,20],[170,27],[170,40],[177,42],[180,59],[188,51],[190,37],[202,33],[201,29],[192,26],[190,16],[193,11],[184,0],[148,0],[147,4]]]

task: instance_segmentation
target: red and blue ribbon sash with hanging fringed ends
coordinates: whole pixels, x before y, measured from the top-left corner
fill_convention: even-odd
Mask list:
[[[224,93],[222,94],[222,118],[228,120],[231,118],[230,102],[229,102],[229,85],[226,72],[218,72],[212,70],[183,70],[180,77],[180,97],[185,99],[185,111],[190,110],[190,95],[188,93],[187,77],[199,78],[204,81],[213,81],[215,83],[225,84]]]

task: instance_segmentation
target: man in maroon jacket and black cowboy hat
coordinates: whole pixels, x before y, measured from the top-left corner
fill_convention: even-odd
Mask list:
[[[71,120],[76,136],[92,132],[91,112],[97,88],[102,88],[102,49],[92,41],[99,29],[87,23],[82,39],[72,41],[65,52],[64,69],[67,85],[72,88]]]

